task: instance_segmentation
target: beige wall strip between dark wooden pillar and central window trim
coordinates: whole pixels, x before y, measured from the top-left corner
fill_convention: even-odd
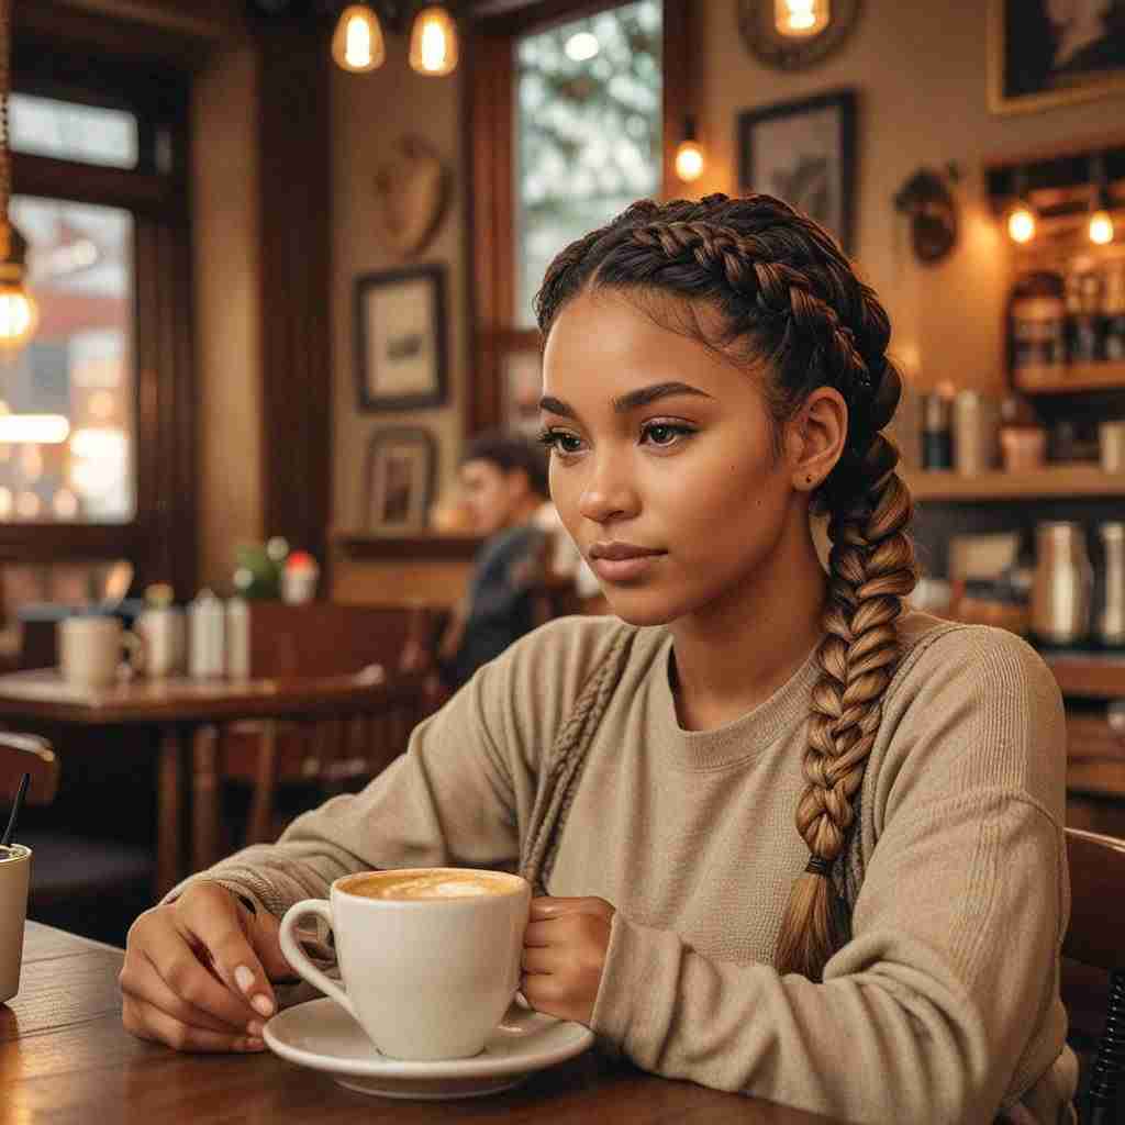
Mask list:
[[[363,525],[363,470],[368,441],[377,430],[421,425],[439,441],[440,485],[456,472],[465,408],[468,315],[465,289],[465,154],[460,106],[464,68],[449,78],[423,78],[406,63],[405,37],[387,36],[387,62],[371,74],[332,75],[333,177],[333,523]],[[422,253],[400,259],[379,233],[375,177],[406,133],[425,137],[453,173],[449,210]],[[352,284],[362,273],[441,262],[447,266],[449,397],[424,411],[361,413],[352,349]]]

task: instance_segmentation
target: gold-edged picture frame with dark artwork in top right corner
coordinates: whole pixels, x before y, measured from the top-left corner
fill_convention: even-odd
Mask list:
[[[988,101],[1022,114],[1125,92],[1125,6],[989,0]]]

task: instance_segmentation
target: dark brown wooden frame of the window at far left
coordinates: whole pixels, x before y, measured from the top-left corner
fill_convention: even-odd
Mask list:
[[[100,562],[125,557],[136,582],[196,584],[196,415],[192,369],[189,200],[190,75],[166,60],[91,53],[69,38],[15,28],[12,89],[89,106],[128,109],[138,119],[138,164],[120,169],[11,154],[12,194],[118,207],[134,219],[133,339],[136,508],[127,523],[6,521],[0,562]],[[172,166],[156,170],[159,129]],[[158,456],[159,451],[159,456]]]

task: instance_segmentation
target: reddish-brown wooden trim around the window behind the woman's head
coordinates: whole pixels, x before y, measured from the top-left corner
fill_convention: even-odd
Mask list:
[[[467,198],[467,290],[471,325],[470,390],[462,415],[471,436],[500,425],[503,363],[513,351],[539,346],[534,328],[513,326],[515,308],[515,182],[512,172],[515,39],[629,0],[478,0],[466,50],[465,151],[470,154]],[[664,0],[660,196],[680,192],[675,151],[684,115],[693,111],[688,0]]]

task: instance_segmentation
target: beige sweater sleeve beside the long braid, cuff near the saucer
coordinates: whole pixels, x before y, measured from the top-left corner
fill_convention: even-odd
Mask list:
[[[855,1122],[991,1122],[1051,1066],[1058,1043],[1029,1052],[1069,910],[1062,704],[1023,641],[968,645],[935,642],[885,700],[878,839],[824,982],[618,914],[596,1033],[646,1070]]]

